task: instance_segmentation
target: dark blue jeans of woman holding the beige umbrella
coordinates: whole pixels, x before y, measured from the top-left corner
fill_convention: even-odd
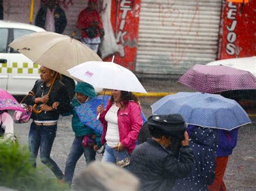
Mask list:
[[[56,131],[57,125],[38,126],[32,122],[29,131],[29,150],[31,152],[31,160],[36,167],[36,158],[40,147],[40,158],[43,164],[50,168],[58,179],[62,179],[62,171],[59,169],[56,162],[50,158]]]

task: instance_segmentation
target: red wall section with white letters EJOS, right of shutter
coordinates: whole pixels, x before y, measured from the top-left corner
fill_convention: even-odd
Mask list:
[[[225,2],[220,22],[218,60],[256,55],[256,1]]]

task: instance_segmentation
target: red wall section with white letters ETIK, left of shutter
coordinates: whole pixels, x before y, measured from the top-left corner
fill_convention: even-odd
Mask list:
[[[115,54],[114,62],[130,70],[135,69],[138,31],[139,31],[140,0],[112,0],[111,24],[121,47],[120,53]],[[111,61],[112,55],[104,59]]]

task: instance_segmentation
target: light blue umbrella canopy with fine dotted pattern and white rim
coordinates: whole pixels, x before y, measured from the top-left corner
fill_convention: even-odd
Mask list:
[[[232,130],[251,123],[245,110],[221,95],[179,92],[151,105],[153,114],[180,114],[188,124]]]

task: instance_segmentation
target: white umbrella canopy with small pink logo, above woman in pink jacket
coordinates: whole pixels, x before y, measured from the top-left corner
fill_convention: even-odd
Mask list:
[[[114,62],[89,61],[68,71],[71,76],[98,88],[147,93],[131,70]]]

